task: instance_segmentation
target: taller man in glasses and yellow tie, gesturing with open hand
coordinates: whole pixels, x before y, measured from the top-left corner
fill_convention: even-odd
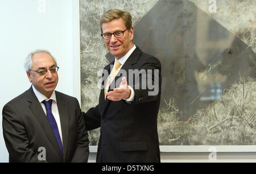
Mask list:
[[[134,28],[128,11],[106,11],[101,16],[100,26],[101,36],[114,61],[104,68],[109,76],[102,74],[104,88],[101,89],[98,105],[83,113],[88,130],[101,127],[96,161],[158,163],[160,61],[133,44]],[[158,74],[154,76],[154,72]],[[131,80],[133,75],[137,79]],[[143,84],[142,77],[158,84],[158,93],[149,95],[150,89],[146,81]],[[135,81],[140,88],[137,88]],[[147,88],[142,89],[142,86]]]

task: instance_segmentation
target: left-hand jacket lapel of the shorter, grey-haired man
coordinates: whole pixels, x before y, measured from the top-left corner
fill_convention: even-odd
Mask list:
[[[27,101],[30,103],[28,107],[30,107],[32,113],[34,114],[34,116],[42,126],[42,129],[46,133],[46,136],[48,137],[49,142],[51,142],[52,146],[55,148],[55,150],[58,152],[58,154],[62,158],[59,145],[57,144],[57,140],[52,131],[52,127],[49,124],[49,121],[46,117],[46,114],[43,111],[41,104],[38,101],[38,98],[36,98],[35,93],[33,92],[32,86],[27,91]]]

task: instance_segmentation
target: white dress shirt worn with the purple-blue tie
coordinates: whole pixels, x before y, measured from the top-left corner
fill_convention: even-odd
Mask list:
[[[46,114],[46,106],[44,106],[44,103],[42,103],[42,101],[52,100],[52,114],[53,114],[53,117],[55,118],[55,121],[56,121],[57,126],[58,126],[61,142],[63,142],[62,141],[62,133],[61,133],[61,125],[60,125],[60,114],[59,114],[59,110],[58,110],[58,107],[57,107],[57,100],[56,100],[55,91],[53,91],[52,96],[50,98],[47,98],[42,93],[40,93],[38,90],[36,90],[33,85],[32,85],[32,88],[33,88],[33,91],[34,91],[36,97],[38,98],[38,101],[41,103],[41,106],[42,106],[45,114]]]

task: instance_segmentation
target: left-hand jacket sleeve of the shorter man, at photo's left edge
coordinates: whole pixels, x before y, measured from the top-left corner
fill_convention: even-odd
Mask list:
[[[26,128],[18,111],[11,103],[7,103],[2,111],[3,138],[9,155],[14,162],[46,162],[38,159],[38,152],[29,146]]]

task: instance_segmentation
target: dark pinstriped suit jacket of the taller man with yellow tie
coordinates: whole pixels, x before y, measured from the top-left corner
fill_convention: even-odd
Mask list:
[[[110,73],[110,65],[105,67]],[[101,127],[98,143],[97,162],[160,162],[157,117],[161,93],[160,61],[143,53],[138,47],[123,64],[127,72],[128,85],[135,92],[134,102],[104,100],[104,89],[101,90],[99,104],[83,113],[88,130]],[[152,84],[159,82],[159,93],[149,96],[150,88],[137,89],[135,82],[129,84],[129,69],[141,71],[158,69],[159,76],[152,76]],[[141,71],[143,72],[143,71]],[[154,73],[153,73],[154,74]],[[118,72],[115,80],[123,74]],[[135,79],[135,78],[134,78]],[[137,80],[141,83],[142,74]],[[130,81],[131,82],[131,81]],[[119,84],[119,83],[117,83]],[[118,87],[119,85],[115,86]],[[109,89],[113,90],[113,89]]]

